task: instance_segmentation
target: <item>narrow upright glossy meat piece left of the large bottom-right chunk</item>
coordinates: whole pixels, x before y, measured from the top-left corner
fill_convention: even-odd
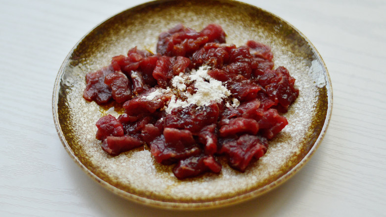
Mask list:
[[[203,127],[198,133],[198,140],[204,145],[204,153],[213,155],[217,152],[217,133],[216,124]]]

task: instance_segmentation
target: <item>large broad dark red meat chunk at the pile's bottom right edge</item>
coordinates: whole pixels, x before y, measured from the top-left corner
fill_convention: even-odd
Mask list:
[[[241,135],[239,138],[226,140],[220,153],[228,158],[232,168],[244,172],[250,161],[262,157],[267,151],[268,142],[265,138],[256,135]]]

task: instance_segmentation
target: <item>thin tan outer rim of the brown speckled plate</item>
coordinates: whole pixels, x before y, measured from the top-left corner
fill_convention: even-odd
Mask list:
[[[66,140],[66,138],[65,138],[65,136],[63,134],[63,131],[61,130],[61,126],[60,126],[60,123],[59,123],[59,115],[58,115],[58,99],[59,98],[58,98],[58,95],[59,95],[59,90],[60,90],[61,79],[62,79],[62,77],[64,75],[65,68],[67,67],[67,64],[68,64],[68,62],[70,60],[70,57],[73,54],[74,50],[97,27],[99,27],[101,24],[107,22],[108,20],[114,18],[115,16],[121,15],[121,14],[123,14],[126,11],[129,11],[129,10],[134,10],[135,8],[145,7],[145,6],[148,6],[148,5],[155,4],[155,3],[165,3],[165,2],[171,2],[171,1],[178,1],[178,0],[152,0],[152,1],[147,1],[145,3],[139,4],[139,5],[135,5],[133,7],[125,9],[125,10],[119,12],[119,13],[116,13],[116,14],[108,17],[107,19],[103,20],[102,22],[98,23],[95,27],[93,27],[90,31],[88,31],[72,47],[72,49],[66,55],[62,65],[59,68],[58,74],[57,74],[57,76],[55,78],[53,92],[52,92],[52,115],[53,115],[53,122],[54,122],[56,132],[57,132],[57,134],[59,136],[59,139],[60,139],[62,145],[64,146],[65,150],[70,155],[70,157],[75,161],[75,163],[89,177],[94,179],[102,187],[104,187],[105,189],[107,189],[107,190],[109,190],[109,191],[115,193],[116,195],[119,195],[119,196],[121,196],[121,197],[123,197],[125,199],[128,199],[128,200],[136,202],[136,203],[140,203],[140,204],[143,204],[143,205],[147,205],[147,206],[150,206],[150,207],[162,208],[162,209],[168,209],[168,210],[207,210],[207,209],[213,209],[213,208],[219,208],[219,207],[225,207],[225,206],[239,204],[239,203],[242,203],[242,202],[244,202],[246,200],[249,200],[249,199],[261,196],[261,195],[271,191],[272,189],[277,188],[278,186],[280,186],[283,183],[285,183],[288,179],[290,179],[293,175],[295,175],[301,168],[303,168],[303,166],[311,159],[311,157],[314,155],[314,153],[316,152],[316,150],[318,149],[318,147],[322,143],[322,140],[323,140],[323,138],[324,138],[324,136],[326,134],[326,131],[328,129],[328,126],[329,126],[330,120],[331,120],[331,116],[332,116],[332,109],[333,109],[333,87],[332,87],[331,78],[330,78],[327,66],[326,66],[323,58],[321,57],[321,55],[320,55],[319,51],[316,49],[316,47],[310,42],[310,40],[307,37],[305,37],[304,34],[302,34],[297,28],[295,28],[293,25],[291,25],[289,22],[287,22],[283,18],[279,17],[278,15],[273,14],[273,13],[271,13],[271,12],[265,10],[265,9],[262,9],[262,8],[260,8],[258,6],[255,6],[255,5],[252,5],[252,4],[248,4],[248,3],[245,3],[245,2],[240,2],[240,1],[237,1],[237,0],[213,0],[213,1],[234,2],[234,3],[237,3],[237,4],[242,4],[243,6],[253,7],[256,10],[260,10],[263,13],[267,13],[267,14],[273,16],[273,17],[276,17],[281,22],[286,23],[297,34],[299,34],[300,37],[303,40],[306,41],[307,44],[310,45],[310,48],[311,48],[312,52],[315,54],[316,59],[322,64],[323,71],[325,72],[324,73],[324,76],[325,76],[325,79],[326,79],[326,86],[325,87],[326,87],[326,94],[327,94],[327,97],[328,97],[328,99],[327,99],[327,103],[328,104],[327,104],[327,112],[326,112],[325,121],[323,123],[323,127],[322,127],[322,129],[321,129],[321,131],[320,131],[320,133],[318,135],[318,138],[316,139],[316,141],[314,142],[314,144],[312,145],[312,147],[310,148],[308,153],[292,169],[290,169],[287,173],[283,174],[281,177],[279,177],[278,179],[274,180],[273,182],[271,182],[271,183],[269,183],[269,184],[267,184],[267,185],[265,185],[265,186],[263,186],[261,188],[251,190],[251,191],[249,191],[247,193],[244,193],[244,194],[241,194],[241,195],[236,195],[236,196],[233,196],[233,197],[230,197],[230,198],[227,198],[227,199],[219,199],[219,200],[208,201],[208,202],[181,202],[181,203],[177,203],[177,202],[168,202],[168,201],[155,200],[155,199],[149,199],[149,198],[141,197],[141,196],[138,196],[138,195],[136,195],[134,193],[130,193],[130,192],[124,191],[122,189],[119,189],[119,188],[111,185],[107,181],[104,181],[103,179],[99,178],[96,174],[94,174],[92,171],[90,171],[84,164],[82,164],[82,162],[79,160],[79,158],[75,155],[74,151],[69,146],[69,144],[68,144],[68,142],[67,142],[67,140]]]

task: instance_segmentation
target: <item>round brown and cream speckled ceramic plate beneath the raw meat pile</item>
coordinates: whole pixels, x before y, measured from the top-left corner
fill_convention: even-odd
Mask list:
[[[272,47],[275,68],[285,66],[300,94],[285,116],[289,125],[270,141],[264,157],[245,173],[222,160],[220,174],[180,181],[173,166],[153,160],[148,148],[107,155],[95,139],[97,120],[114,105],[83,99],[85,75],[111,57],[139,49],[155,51],[159,33],[178,23],[196,30],[220,24],[227,43],[255,40]],[[94,180],[127,199],[150,206],[204,209],[230,205],[265,193],[295,174],[312,156],[326,132],[332,87],[315,47],[279,17],[258,7],[228,0],[160,0],[117,14],[98,25],[69,53],[56,78],[53,116],[59,137],[74,161]]]

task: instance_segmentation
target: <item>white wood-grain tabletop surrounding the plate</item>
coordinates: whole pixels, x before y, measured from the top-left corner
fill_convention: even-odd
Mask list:
[[[73,45],[144,0],[0,0],[0,216],[386,216],[386,1],[244,0],[295,26],[330,72],[330,127],[308,164],[256,199],[216,210],[149,208],[89,178],[63,148],[52,88]]]

